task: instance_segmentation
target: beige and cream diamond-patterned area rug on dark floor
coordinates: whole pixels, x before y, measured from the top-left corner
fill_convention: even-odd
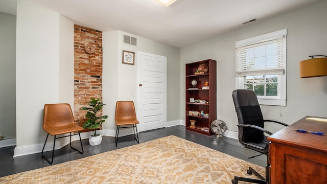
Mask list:
[[[0,183],[231,183],[260,166],[167,136],[70,162],[0,178]],[[244,182],[239,182],[244,183]]]

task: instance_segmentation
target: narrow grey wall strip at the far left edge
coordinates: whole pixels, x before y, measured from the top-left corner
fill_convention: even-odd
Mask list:
[[[0,135],[16,137],[16,16],[0,12]]]

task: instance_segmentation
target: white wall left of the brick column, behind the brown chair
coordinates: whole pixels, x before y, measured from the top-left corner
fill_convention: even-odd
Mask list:
[[[26,1],[17,2],[16,21],[15,156],[19,156],[42,148],[46,137],[42,129],[44,104],[73,102],[74,81],[60,81],[74,74],[74,24],[59,13]],[[60,139],[58,143],[67,141]]]

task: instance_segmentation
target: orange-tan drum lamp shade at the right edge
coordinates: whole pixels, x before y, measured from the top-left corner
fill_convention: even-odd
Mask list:
[[[327,57],[300,61],[300,77],[327,76]]]

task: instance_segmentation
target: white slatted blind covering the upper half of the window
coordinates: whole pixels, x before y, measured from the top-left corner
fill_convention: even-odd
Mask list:
[[[285,71],[286,35],[236,46],[235,75],[281,75]]]

